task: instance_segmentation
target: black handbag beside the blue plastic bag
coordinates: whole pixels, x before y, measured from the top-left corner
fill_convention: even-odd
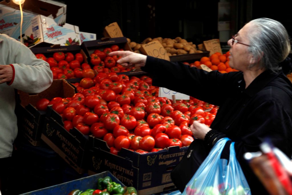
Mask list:
[[[225,144],[220,158],[229,160],[230,143],[231,141],[228,141]],[[185,186],[192,179],[210,151],[211,147],[204,143],[203,140],[195,139],[180,163],[171,171],[171,180],[181,192],[184,191]]]

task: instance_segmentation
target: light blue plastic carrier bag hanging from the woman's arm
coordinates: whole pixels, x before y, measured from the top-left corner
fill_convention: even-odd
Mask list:
[[[211,149],[190,182],[183,195],[250,195],[246,178],[236,159],[234,142],[230,144],[230,157],[220,159],[222,150],[230,139],[220,139]]]

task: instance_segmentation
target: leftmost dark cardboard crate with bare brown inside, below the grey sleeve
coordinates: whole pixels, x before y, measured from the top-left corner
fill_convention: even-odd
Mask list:
[[[43,130],[46,111],[37,110],[37,102],[40,99],[52,99],[53,97],[71,97],[75,88],[65,80],[54,80],[51,87],[39,94],[28,94],[18,91],[20,104],[17,105],[18,130],[29,142],[34,145],[41,144],[41,131]]]

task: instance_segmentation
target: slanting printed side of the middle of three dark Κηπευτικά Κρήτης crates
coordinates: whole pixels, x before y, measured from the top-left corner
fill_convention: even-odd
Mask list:
[[[78,173],[86,171],[88,136],[75,127],[64,128],[62,116],[48,107],[41,139],[57,152]]]

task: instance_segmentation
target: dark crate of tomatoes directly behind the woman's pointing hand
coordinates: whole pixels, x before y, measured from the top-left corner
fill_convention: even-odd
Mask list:
[[[109,57],[107,54],[118,50],[132,51],[126,37],[107,37],[93,41],[84,41],[81,47],[87,56],[88,63],[98,72],[105,72],[104,68],[108,68],[111,72],[116,73],[124,71],[125,68],[116,63],[119,56]]]

